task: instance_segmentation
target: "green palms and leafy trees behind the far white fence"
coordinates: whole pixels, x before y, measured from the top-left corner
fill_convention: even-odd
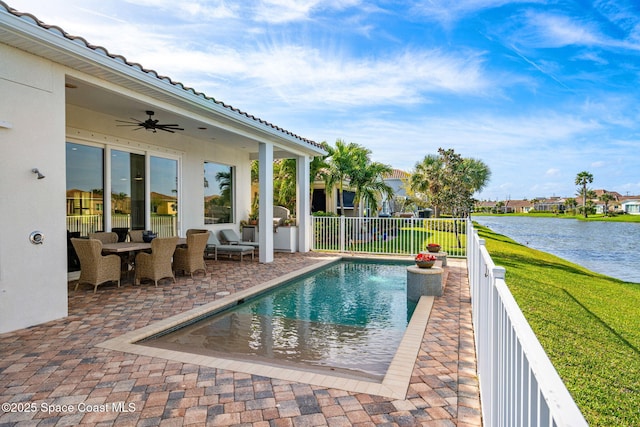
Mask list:
[[[436,217],[467,216],[475,202],[474,193],[484,188],[491,177],[489,167],[482,160],[439,148],[437,154],[427,154],[416,162],[403,183],[406,196],[401,197],[385,182],[393,168],[373,161],[368,148],[341,139],[336,140],[335,145],[326,142],[321,145],[327,154],[314,157],[310,163],[311,195],[316,181],[324,182],[327,192],[337,189],[340,215],[344,215],[341,207],[345,206],[345,191],[351,191],[356,216],[366,212],[377,215],[384,200],[391,201],[396,210],[432,208]],[[253,169],[257,171],[257,166]],[[257,180],[257,173],[254,179]],[[274,204],[294,211],[295,196],[296,161],[280,160],[274,164]],[[359,210],[361,204],[364,212]]]

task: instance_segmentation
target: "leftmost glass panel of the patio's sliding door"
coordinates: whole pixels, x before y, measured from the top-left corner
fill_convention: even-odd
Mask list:
[[[104,229],[104,150],[67,143],[67,230],[73,236]]]

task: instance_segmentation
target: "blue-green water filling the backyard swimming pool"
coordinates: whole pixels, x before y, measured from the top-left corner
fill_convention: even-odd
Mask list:
[[[406,266],[342,261],[141,344],[382,379],[416,306]]]

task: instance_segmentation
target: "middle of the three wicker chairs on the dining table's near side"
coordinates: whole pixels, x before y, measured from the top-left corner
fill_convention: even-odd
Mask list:
[[[158,280],[169,277],[175,283],[171,257],[177,244],[178,237],[157,237],[151,241],[151,253],[140,252],[136,255],[135,284],[139,285],[141,279],[151,279],[158,286]]]

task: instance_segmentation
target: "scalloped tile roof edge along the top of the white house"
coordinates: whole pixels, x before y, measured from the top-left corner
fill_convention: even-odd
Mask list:
[[[193,88],[185,86],[181,82],[176,82],[176,81],[172,80],[170,77],[158,74],[158,72],[156,72],[155,70],[144,68],[141,64],[138,64],[136,62],[130,62],[124,56],[113,54],[113,53],[109,52],[106,48],[104,48],[102,46],[93,45],[93,44],[89,43],[83,37],[71,35],[71,34],[67,33],[66,31],[64,31],[62,28],[58,27],[57,25],[46,24],[46,23],[40,21],[36,16],[34,16],[31,13],[20,12],[20,11],[18,11],[16,9],[13,9],[13,8],[9,7],[6,3],[4,3],[2,0],[0,0],[0,6],[2,6],[8,13],[10,13],[10,14],[18,17],[18,18],[21,18],[21,19],[23,19],[23,20],[25,20],[27,22],[32,22],[32,23],[38,25],[39,27],[44,28],[45,30],[48,30],[48,31],[50,31],[50,32],[52,32],[54,34],[59,34],[59,35],[63,36],[64,38],[66,38],[68,40],[71,40],[71,41],[73,41],[75,43],[82,43],[88,49],[91,49],[91,50],[93,50],[95,52],[98,52],[100,54],[104,54],[104,55],[108,56],[109,58],[112,58],[115,61],[124,63],[124,64],[126,64],[126,65],[128,65],[128,66],[130,66],[132,68],[135,68],[136,70],[142,71],[142,72],[144,72],[144,73],[146,73],[146,74],[148,74],[150,76],[156,77],[158,80],[162,80],[162,81],[168,82],[168,83],[172,84],[173,86],[181,88],[182,90],[184,90],[186,92],[190,92],[190,93],[192,93],[192,94],[194,94],[194,95],[196,95],[198,97],[202,97],[204,99],[212,101],[212,102],[214,102],[214,103],[216,103],[216,104],[228,109],[229,111],[231,111],[233,113],[236,113],[236,114],[245,116],[245,117],[247,117],[249,119],[255,120],[258,123],[261,123],[261,124],[263,124],[265,126],[273,128],[273,129],[275,129],[275,130],[277,130],[279,132],[282,132],[282,133],[284,133],[286,135],[289,135],[289,136],[291,136],[291,137],[293,137],[295,139],[298,139],[300,141],[306,142],[307,144],[310,144],[310,145],[312,145],[314,147],[322,148],[322,146],[319,143],[315,142],[315,141],[312,141],[312,140],[307,139],[307,138],[303,138],[303,137],[301,137],[299,135],[296,135],[293,132],[290,132],[290,131],[288,131],[286,129],[283,129],[283,128],[279,127],[279,126],[276,126],[276,125],[274,125],[274,124],[272,124],[272,123],[270,123],[270,122],[268,122],[266,120],[263,120],[263,119],[261,119],[259,117],[256,117],[256,116],[254,116],[252,114],[249,114],[249,113],[247,113],[245,111],[242,111],[239,108],[233,107],[233,106],[231,106],[229,104],[226,104],[226,103],[224,103],[222,101],[218,101],[217,99],[215,99],[213,97],[207,96],[206,94],[204,94],[202,92],[198,92]]]

